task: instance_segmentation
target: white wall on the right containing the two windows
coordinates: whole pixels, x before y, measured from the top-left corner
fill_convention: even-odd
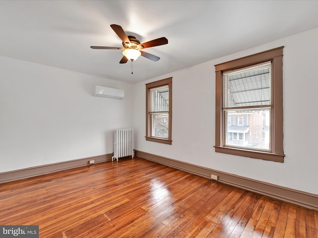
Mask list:
[[[135,149],[318,194],[318,28],[134,85]],[[215,64],[285,46],[284,163],[215,153]],[[217,47],[217,46],[216,46]],[[172,76],[172,145],[145,140],[145,83]]]

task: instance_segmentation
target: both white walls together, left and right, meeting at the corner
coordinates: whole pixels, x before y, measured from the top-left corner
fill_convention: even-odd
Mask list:
[[[112,153],[112,129],[134,127],[137,150],[318,194],[317,42],[318,28],[135,85],[0,57],[0,173]],[[280,46],[285,162],[215,153],[214,64]],[[170,76],[172,145],[146,141],[145,83]],[[94,84],[125,98],[92,97]]]

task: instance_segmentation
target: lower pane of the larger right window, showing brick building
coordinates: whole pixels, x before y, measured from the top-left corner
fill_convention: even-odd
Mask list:
[[[268,151],[270,110],[228,110],[225,117],[233,124],[225,128],[225,145]],[[257,121],[258,123],[254,123]],[[233,136],[232,136],[233,134]]]

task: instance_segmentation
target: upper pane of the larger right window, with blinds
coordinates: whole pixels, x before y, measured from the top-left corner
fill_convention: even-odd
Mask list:
[[[223,107],[271,104],[271,62],[223,73]]]

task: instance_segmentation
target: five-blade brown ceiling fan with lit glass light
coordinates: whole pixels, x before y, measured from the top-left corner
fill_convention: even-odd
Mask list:
[[[121,26],[112,24],[110,25],[110,27],[114,30],[117,36],[119,36],[119,38],[123,41],[122,42],[123,47],[91,46],[90,48],[98,49],[98,50],[123,50],[124,56],[119,63],[127,63],[128,60],[131,60],[131,61],[137,60],[139,56],[146,57],[149,60],[158,61],[160,60],[158,56],[154,56],[142,50],[145,48],[168,44],[168,40],[165,37],[161,37],[161,38],[140,44],[140,41],[137,40],[136,37],[127,36]]]

